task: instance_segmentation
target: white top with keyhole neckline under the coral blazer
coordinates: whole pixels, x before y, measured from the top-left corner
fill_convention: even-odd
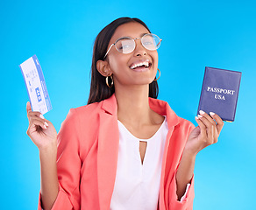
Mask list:
[[[149,139],[139,139],[118,121],[119,151],[117,175],[110,210],[156,210],[160,192],[160,173],[165,142],[167,119]],[[147,142],[141,164],[139,142]]]

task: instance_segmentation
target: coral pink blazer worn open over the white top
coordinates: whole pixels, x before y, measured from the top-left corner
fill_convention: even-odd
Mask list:
[[[191,210],[194,178],[186,199],[177,200],[175,173],[194,125],[176,116],[167,102],[149,98],[150,108],[167,116],[168,134],[160,179],[160,210]],[[115,95],[70,109],[58,134],[57,167],[60,191],[53,210],[110,209],[118,155],[117,100]],[[39,196],[39,209],[41,209]]]

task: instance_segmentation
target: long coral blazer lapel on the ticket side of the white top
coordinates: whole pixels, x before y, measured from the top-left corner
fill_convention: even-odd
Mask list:
[[[113,193],[119,146],[119,131],[117,124],[117,100],[115,95],[103,101],[103,111],[100,113],[97,176],[100,209],[110,209]]]

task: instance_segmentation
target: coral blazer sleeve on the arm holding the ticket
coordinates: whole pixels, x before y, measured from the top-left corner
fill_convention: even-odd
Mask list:
[[[57,172],[59,193],[52,210],[80,209],[81,123],[75,109],[70,109],[58,134]],[[39,193],[39,210],[41,194]]]

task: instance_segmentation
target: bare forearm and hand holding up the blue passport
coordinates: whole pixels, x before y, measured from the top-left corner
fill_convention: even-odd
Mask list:
[[[219,116],[214,113],[210,113],[210,116],[200,111],[200,115],[196,117],[198,126],[189,134],[176,172],[178,200],[181,200],[186,186],[193,177],[197,153],[210,144],[217,143],[217,138],[224,126],[224,122]]]

